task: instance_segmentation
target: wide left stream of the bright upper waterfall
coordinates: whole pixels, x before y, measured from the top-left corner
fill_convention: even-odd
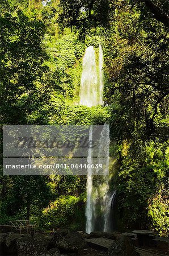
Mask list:
[[[83,71],[81,77],[80,105],[98,105],[98,74],[96,71],[95,49],[89,46],[83,57]]]

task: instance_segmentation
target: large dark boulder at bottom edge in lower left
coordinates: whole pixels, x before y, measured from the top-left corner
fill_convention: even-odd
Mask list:
[[[32,237],[20,237],[16,241],[18,256],[50,256],[44,243]]]

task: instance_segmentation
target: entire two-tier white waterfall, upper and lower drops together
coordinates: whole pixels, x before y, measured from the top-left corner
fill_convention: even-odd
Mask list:
[[[83,57],[83,70],[81,77],[80,105],[96,106],[103,104],[103,49],[99,45],[98,69],[96,65],[95,49],[93,46],[87,47]],[[89,132],[89,141],[92,140],[92,126]],[[94,189],[92,169],[87,170],[87,203],[86,203],[86,233],[91,233],[96,229],[97,213],[96,207],[100,207],[103,213],[102,230],[109,230],[109,220],[115,192],[109,196],[109,125],[105,124],[100,134],[98,163],[104,162],[102,183],[99,188]],[[104,160],[103,160],[104,158]],[[92,164],[92,148],[88,148],[88,164]],[[95,193],[95,196],[94,196]]]

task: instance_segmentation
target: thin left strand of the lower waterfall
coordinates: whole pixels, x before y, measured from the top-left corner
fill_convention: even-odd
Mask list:
[[[92,141],[92,126],[89,131],[89,141]],[[88,148],[87,163],[92,164],[92,148]],[[92,168],[87,169],[87,203],[86,203],[86,233],[90,234],[93,230],[92,215],[94,210],[94,204],[92,200]]]

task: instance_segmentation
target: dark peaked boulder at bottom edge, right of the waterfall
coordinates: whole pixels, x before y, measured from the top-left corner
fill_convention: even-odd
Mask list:
[[[109,247],[107,254],[109,256],[137,256],[140,255],[134,249],[132,242],[126,236],[119,236],[116,242]]]

